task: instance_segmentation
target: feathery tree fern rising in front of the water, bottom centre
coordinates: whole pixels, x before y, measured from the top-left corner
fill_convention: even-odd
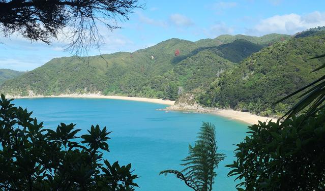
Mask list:
[[[175,174],[193,190],[208,191],[212,190],[214,178],[217,176],[215,169],[224,160],[225,154],[217,153],[216,131],[212,123],[203,122],[197,138],[194,146],[189,145],[189,155],[181,164],[185,167],[182,172],[165,170],[159,175]]]

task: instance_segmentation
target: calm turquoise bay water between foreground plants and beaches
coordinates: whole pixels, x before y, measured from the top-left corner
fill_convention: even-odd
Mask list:
[[[18,99],[17,106],[33,111],[33,116],[44,121],[46,128],[56,128],[60,122],[77,123],[85,133],[92,124],[107,126],[111,139],[110,152],[104,157],[132,163],[137,190],[191,190],[173,175],[158,176],[161,170],[181,170],[181,160],[187,155],[188,145],[193,144],[202,121],[216,125],[218,152],[226,154],[219,164],[214,190],[235,190],[233,178],[227,177],[226,164],[233,161],[233,144],[245,137],[247,124],[211,114],[164,112],[157,109],[165,105],[146,102],[81,99],[37,98]]]

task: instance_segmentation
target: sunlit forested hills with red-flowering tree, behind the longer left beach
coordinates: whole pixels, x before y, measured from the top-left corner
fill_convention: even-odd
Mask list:
[[[10,95],[100,92],[174,100],[182,92],[208,86],[265,43],[287,38],[272,35],[260,43],[257,37],[235,37],[227,42],[169,39],[133,53],[104,54],[105,60],[100,56],[54,58],[5,82],[0,90]]]

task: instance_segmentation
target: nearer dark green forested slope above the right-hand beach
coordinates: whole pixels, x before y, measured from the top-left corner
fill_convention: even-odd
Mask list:
[[[259,115],[281,115],[294,103],[271,106],[275,101],[309,84],[324,74],[311,71],[324,63],[312,59],[325,53],[325,31],[299,34],[275,43],[244,59],[220,75],[198,96],[209,107],[231,108]]]

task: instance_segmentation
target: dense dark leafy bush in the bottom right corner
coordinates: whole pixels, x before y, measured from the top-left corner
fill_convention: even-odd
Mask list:
[[[237,144],[229,176],[244,180],[245,190],[324,190],[325,113],[249,127]],[[239,190],[244,190],[239,188]]]

